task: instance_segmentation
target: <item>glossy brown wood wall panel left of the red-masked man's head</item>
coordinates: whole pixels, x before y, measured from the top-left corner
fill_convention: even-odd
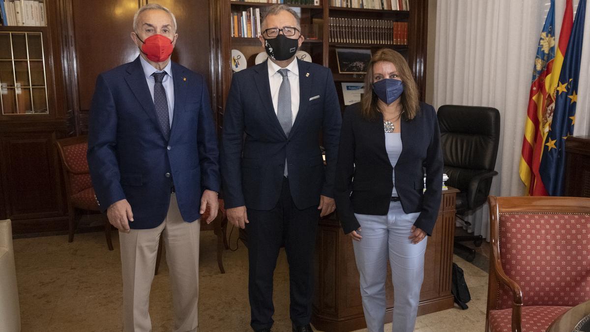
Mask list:
[[[139,50],[131,39],[137,0],[70,0],[74,46],[77,110],[87,110],[96,77],[103,71],[133,61]]]

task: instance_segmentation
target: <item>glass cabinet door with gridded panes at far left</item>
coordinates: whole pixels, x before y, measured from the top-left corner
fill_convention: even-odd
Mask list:
[[[3,115],[48,113],[41,32],[0,32]]]

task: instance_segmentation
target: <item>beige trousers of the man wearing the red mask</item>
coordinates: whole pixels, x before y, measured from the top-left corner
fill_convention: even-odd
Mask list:
[[[174,307],[173,331],[196,331],[199,299],[200,220],[182,220],[176,195],[170,198],[168,215],[154,229],[119,232],[123,272],[123,327],[126,332],[152,330],[149,293],[156,266],[160,234],[166,249]]]

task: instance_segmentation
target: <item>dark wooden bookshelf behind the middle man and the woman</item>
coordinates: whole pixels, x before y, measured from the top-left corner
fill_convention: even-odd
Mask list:
[[[286,1],[289,2],[289,1]],[[297,2],[292,1],[292,2]],[[306,2],[306,1],[300,1]],[[409,1],[409,10],[391,10],[391,9],[369,9],[369,8],[349,8],[333,6],[337,2],[333,0],[320,0],[319,5],[309,4],[287,4],[299,12],[301,16],[301,30],[306,40],[301,45],[300,50],[306,51],[312,56],[313,63],[321,64],[332,70],[336,91],[338,92],[340,105],[344,109],[342,97],[342,82],[363,82],[363,74],[344,74],[339,73],[336,49],[337,48],[356,48],[368,49],[374,53],[382,47],[392,48],[407,58],[410,68],[414,71],[415,79],[421,91],[421,100],[424,100],[425,90],[425,61],[426,61],[426,33],[427,33],[427,5],[428,0]],[[359,1],[360,3],[360,1]],[[253,1],[235,1],[224,0],[219,4],[219,65],[221,66],[220,75],[222,79],[218,82],[217,89],[220,92],[217,96],[217,123],[219,129],[222,128],[223,109],[225,99],[229,93],[231,84],[231,50],[239,50],[246,58],[247,67],[255,65],[255,57],[258,53],[263,52],[258,38],[235,37],[235,18],[232,14],[248,12],[253,8],[253,12],[258,8],[260,18],[264,17],[265,8],[273,4]],[[331,21],[332,20],[332,21]],[[338,20],[340,25],[332,24]],[[356,22],[355,26],[351,26]],[[361,38],[348,38],[348,40],[335,38],[337,28],[346,28],[349,37],[356,35],[362,36],[359,25],[368,24],[365,27],[366,34],[376,34],[379,36],[379,43],[361,43]],[[382,25],[373,25],[375,22],[382,22]],[[403,40],[394,40],[395,27],[405,25],[405,37]],[[255,25],[255,24],[254,24]],[[313,29],[314,39],[307,39],[305,31]],[[389,35],[388,35],[389,33]],[[400,39],[400,38],[396,38]]]

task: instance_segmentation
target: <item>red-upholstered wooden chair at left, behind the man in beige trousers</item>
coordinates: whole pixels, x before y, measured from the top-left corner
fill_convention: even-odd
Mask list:
[[[58,139],[57,148],[60,152],[64,172],[68,214],[70,216],[68,242],[72,242],[77,223],[80,221],[82,214],[100,213],[100,210],[94,196],[94,188],[92,187],[88,161],[86,160],[87,136]],[[102,214],[102,217],[104,219],[104,235],[107,239],[107,245],[109,250],[113,250],[111,225],[105,214]]]

